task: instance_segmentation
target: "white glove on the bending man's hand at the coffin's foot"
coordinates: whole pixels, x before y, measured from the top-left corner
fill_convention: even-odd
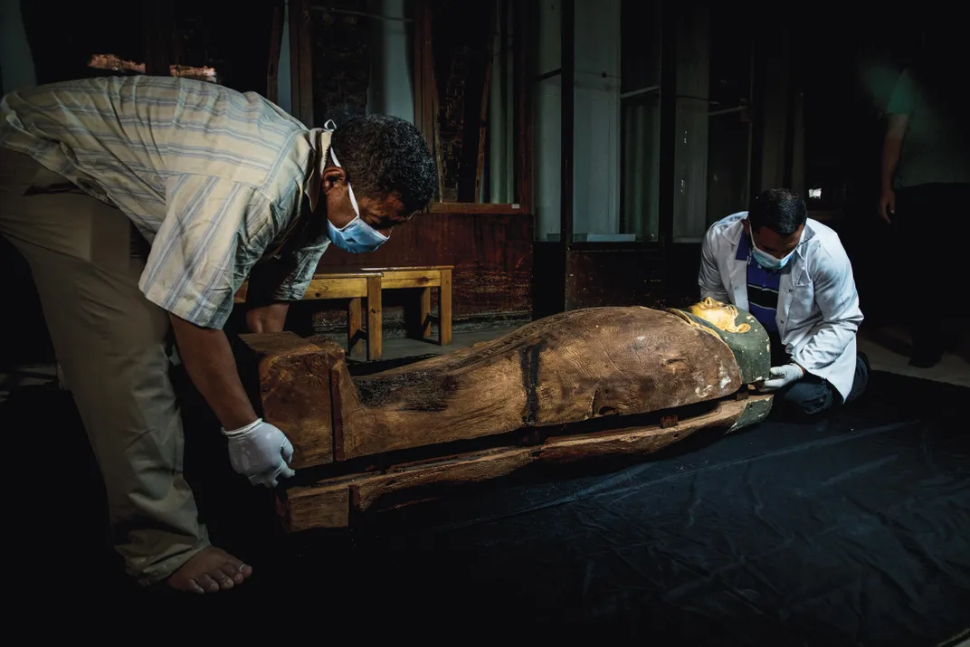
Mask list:
[[[289,468],[293,444],[289,438],[262,418],[234,432],[222,430],[229,438],[229,462],[253,485],[275,487],[277,477],[297,473]]]

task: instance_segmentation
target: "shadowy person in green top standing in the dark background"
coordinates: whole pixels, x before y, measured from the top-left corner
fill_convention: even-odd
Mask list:
[[[963,291],[958,245],[970,233],[970,138],[955,48],[946,27],[924,33],[917,60],[896,81],[887,108],[879,215],[892,225],[904,264],[910,364],[935,366],[956,345],[941,306]],[[963,77],[965,78],[965,77]]]

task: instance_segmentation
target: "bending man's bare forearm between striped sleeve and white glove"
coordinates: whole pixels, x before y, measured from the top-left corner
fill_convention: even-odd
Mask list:
[[[170,314],[178,341],[178,355],[192,383],[227,430],[256,420],[256,412],[242,388],[236,359],[221,330],[200,328]]]

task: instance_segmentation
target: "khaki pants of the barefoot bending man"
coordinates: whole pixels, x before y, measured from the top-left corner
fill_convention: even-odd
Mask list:
[[[143,584],[209,545],[182,476],[182,425],[169,380],[168,314],[138,289],[144,256],[130,220],[0,149],[0,234],[30,266],[57,362],[108,491],[115,549]],[[143,240],[144,243],[144,240]]]

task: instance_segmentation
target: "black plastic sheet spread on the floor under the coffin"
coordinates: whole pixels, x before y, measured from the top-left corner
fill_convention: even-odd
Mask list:
[[[328,627],[459,642],[929,647],[970,628],[968,396],[874,372],[861,400],[824,419],[456,491],[347,531],[277,533],[269,494],[223,465],[206,425],[187,426],[187,469],[213,540],[257,571],[222,603],[285,599]],[[12,399],[0,420],[23,410]],[[97,496],[85,469],[91,490],[60,496]],[[102,517],[70,507],[34,520],[36,546],[55,550],[70,523],[92,535]],[[90,568],[118,571],[97,539],[81,544],[106,556]]]

